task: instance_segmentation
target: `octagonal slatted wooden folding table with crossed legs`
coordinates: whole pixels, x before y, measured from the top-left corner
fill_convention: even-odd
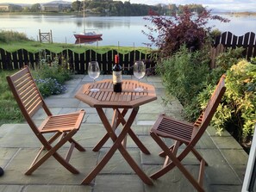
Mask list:
[[[146,146],[141,143],[140,139],[133,132],[131,126],[139,111],[140,105],[156,100],[157,96],[153,85],[140,83],[140,87],[144,89],[141,92],[134,91],[137,86],[137,81],[123,80],[122,92],[116,93],[113,91],[112,80],[107,79],[98,81],[96,84],[84,84],[76,93],[75,97],[78,98],[78,100],[89,104],[92,108],[96,108],[97,114],[107,131],[103,139],[93,148],[93,151],[99,151],[109,138],[113,140],[113,146],[110,147],[109,152],[107,152],[97,166],[91,170],[91,173],[84,178],[82,184],[90,184],[103,169],[105,164],[108,163],[117,149],[144,183],[149,185],[153,184],[152,180],[140,169],[140,166],[136,164],[126,150],[126,137],[129,135],[140,148],[141,152],[150,154]],[[91,92],[91,88],[98,88],[99,91]],[[114,113],[111,123],[105,115],[103,108],[113,108]],[[125,115],[128,114],[129,109],[131,109],[131,113],[128,118],[125,119]],[[120,124],[122,124],[122,131],[119,135],[116,135],[115,130]]]

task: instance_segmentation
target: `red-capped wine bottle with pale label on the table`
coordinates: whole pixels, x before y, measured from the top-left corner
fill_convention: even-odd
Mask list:
[[[122,92],[122,66],[119,64],[119,55],[115,55],[115,65],[113,66],[113,90]]]

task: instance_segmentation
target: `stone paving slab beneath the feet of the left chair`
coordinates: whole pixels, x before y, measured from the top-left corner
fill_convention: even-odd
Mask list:
[[[21,149],[16,152],[11,163],[5,168],[5,174],[1,177],[0,184],[79,185],[85,175],[91,171],[91,167],[97,164],[98,158],[98,154],[91,150],[74,152],[71,164],[80,171],[80,174],[70,173],[54,158],[49,158],[31,176],[25,176],[24,172],[28,170],[37,152],[38,149]],[[59,153],[64,155],[65,152],[63,149]]]

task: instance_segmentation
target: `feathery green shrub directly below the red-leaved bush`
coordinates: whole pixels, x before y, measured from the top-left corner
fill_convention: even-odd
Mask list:
[[[209,72],[209,59],[203,51],[190,52],[186,46],[157,65],[167,92],[187,107],[203,89],[202,82]]]

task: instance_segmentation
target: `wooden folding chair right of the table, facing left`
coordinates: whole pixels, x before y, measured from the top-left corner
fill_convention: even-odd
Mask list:
[[[163,150],[163,152],[159,153],[159,156],[165,157],[165,163],[160,170],[151,175],[151,178],[157,179],[177,166],[184,174],[184,177],[186,177],[198,191],[204,191],[203,173],[205,165],[208,164],[199,152],[197,152],[195,146],[197,141],[202,137],[206,128],[209,126],[209,122],[222,100],[222,96],[226,90],[224,79],[225,77],[223,75],[217,84],[213,95],[210,97],[207,107],[203,110],[203,113],[194,124],[177,121],[167,115],[159,115],[159,118],[153,125],[150,134]],[[175,143],[171,147],[168,147],[161,138],[173,139]],[[185,147],[180,149],[181,147],[179,148],[179,146],[182,146],[183,144]],[[178,152],[178,150],[181,152]],[[181,163],[190,152],[192,152],[200,162],[200,170],[197,180]]]

